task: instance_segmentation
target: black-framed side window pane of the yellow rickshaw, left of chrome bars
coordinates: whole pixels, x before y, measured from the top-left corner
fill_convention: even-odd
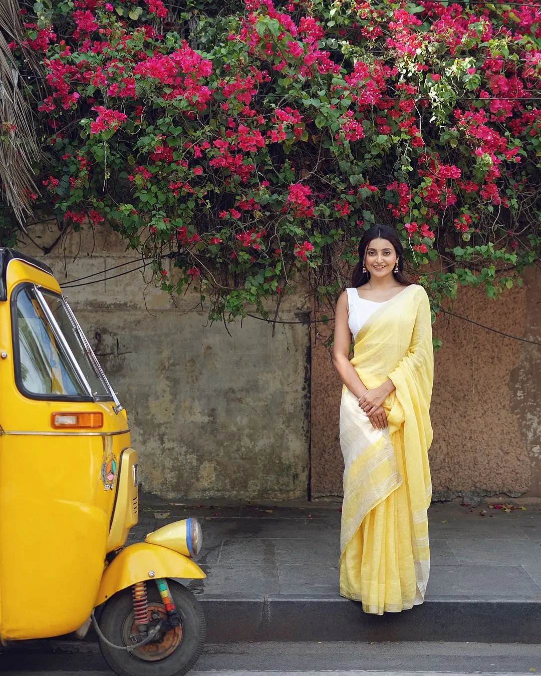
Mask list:
[[[38,395],[86,395],[30,288],[17,295],[17,324],[24,389]]]

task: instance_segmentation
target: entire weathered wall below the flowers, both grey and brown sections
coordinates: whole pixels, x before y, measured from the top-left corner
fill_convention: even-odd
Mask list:
[[[40,234],[43,246],[57,235]],[[66,294],[128,410],[145,490],[170,499],[305,498],[310,468],[312,497],[342,494],[341,385],[324,327],[317,340],[302,324],[272,337],[249,318],[229,324],[230,337],[191,310],[197,295],[174,304],[149,271],[104,281],[131,266],[108,268],[140,264],[107,228],[72,234],[48,256],[25,250],[61,283],[99,273]],[[462,292],[454,312],[541,341],[541,273],[526,279],[497,301]],[[304,299],[288,302],[283,319],[308,318]],[[431,408],[436,498],[541,498],[541,347],[448,316],[434,333],[443,340]]]

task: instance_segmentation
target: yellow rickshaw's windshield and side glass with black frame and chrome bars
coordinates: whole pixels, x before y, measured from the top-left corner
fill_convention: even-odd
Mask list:
[[[25,285],[17,293],[16,312],[24,391],[38,397],[115,399],[62,296]]]

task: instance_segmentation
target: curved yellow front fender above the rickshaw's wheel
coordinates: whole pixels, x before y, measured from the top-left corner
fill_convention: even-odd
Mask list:
[[[206,575],[183,554],[159,545],[138,542],[124,548],[105,568],[95,606],[101,606],[116,592],[137,582],[160,577],[202,579]]]

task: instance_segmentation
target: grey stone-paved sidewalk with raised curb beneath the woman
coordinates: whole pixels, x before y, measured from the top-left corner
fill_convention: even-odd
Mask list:
[[[539,507],[433,504],[425,604],[381,618],[338,595],[338,503],[141,504],[132,541],[185,516],[201,521],[208,577],[185,583],[204,604],[212,641],[541,642]]]

